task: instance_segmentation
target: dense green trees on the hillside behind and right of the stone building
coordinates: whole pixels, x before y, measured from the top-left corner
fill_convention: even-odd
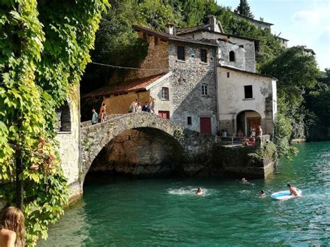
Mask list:
[[[313,56],[304,47],[284,49],[269,29],[261,30],[233,15],[230,8],[207,0],[111,0],[97,31],[92,60],[98,63],[137,67],[146,56],[146,44],[140,40],[132,24],[166,31],[166,24],[175,27],[207,23],[210,15],[221,21],[225,33],[260,40],[256,55],[257,71],[278,79],[278,118],[276,137],[278,151],[289,155],[295,150],[288,145],[292,138],[321,141],[329,133],[329,70],[320,72]],[[237,10],[253,17],[247,1],[237,1]],[[126,70],[90,64],[81,81],[81,93],[88,93],[111,83],[113,74],[125,78]]]

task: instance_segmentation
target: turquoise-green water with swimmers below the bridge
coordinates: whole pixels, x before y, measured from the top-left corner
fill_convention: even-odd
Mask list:
[[[330,142],[298,145],[267,180],[113,180],[86,184],[38,246],[307,246],[330,244]],[[269,194],[290,182],[301,198]],[[206,191],[194,196],[196,187]],[[258,192],[265,189],[267,197]]]

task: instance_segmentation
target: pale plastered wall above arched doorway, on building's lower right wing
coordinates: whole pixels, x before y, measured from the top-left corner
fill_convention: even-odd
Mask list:
[[[230,73],[229,78],[227,78],[227,72]],[[235,120],[242,111],[256,111],[264,120],[264,133],[272,134],[276,113],[276,81],[270,77],[238,72],[224,67],[218,67],[217,73],[219,121]],[[252,85],[253,98],[245,99],[244,86],[249,85]],[[269,96],[272,100],[270,111],[266,109],[266,98]]]

